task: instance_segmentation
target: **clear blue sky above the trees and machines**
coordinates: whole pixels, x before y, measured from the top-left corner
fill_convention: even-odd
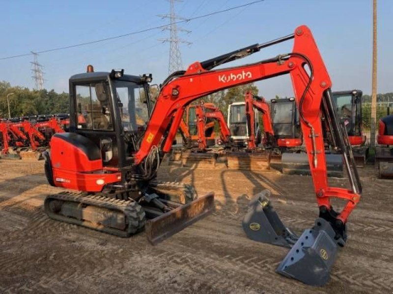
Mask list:
[[[183,0],[175,3],[179,16],[191,18],[253,0]],[[157,15],[169,13],[167,0],[0,0],[3,41],[0,58],[69,46],[168,24]],[[378,1],[378,93],[393,92],[393,1]],[[371,92],[372,0],[264,0],[222,14],[181,24],[192,42],[181,49],[183,68],[195,61],[264,43],[308,25],[333,82],[333,90]],[[168,30],[155,29],[124,38],[72,49],[41,53],[44,86],[68,92],[68,78],[85,72],[124,69],[125,73],[153,74],[153,83],[168,76]],[[263,49],[225,66],[251,63],[290,52],[293,42]],[[388,55],[389,54],[389,55]],[[34,87],[32,55],[0,60],[0,80],[13,86]],[[257,82],[259,94],[293,96],[289,76]]]

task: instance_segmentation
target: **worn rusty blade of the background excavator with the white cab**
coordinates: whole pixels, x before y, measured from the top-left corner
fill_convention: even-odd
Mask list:
[[[269,152],[228,152],[228,169],[234,170],[270,170]]]

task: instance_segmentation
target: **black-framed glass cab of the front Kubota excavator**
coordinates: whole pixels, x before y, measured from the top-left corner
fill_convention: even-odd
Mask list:
[[[88,152],[99,153],[104,167],[130,165],[151,112],[145,79],[121,71],[73,75],[70,133],[56,136],[87,138],[96,146]]]

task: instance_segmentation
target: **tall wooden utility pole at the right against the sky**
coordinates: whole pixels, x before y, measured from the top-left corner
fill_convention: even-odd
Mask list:
[[[374,150],[377,120],[377,0],[372,1],[372,89],[370,148]]]

